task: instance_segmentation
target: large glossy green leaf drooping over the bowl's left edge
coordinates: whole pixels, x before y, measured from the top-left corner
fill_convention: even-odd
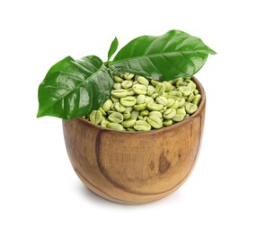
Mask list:
[[[74,60],[67,56],[53,65],[39,87],[40,116],[70,120],[90,114],[110,96],[112,77],[97,56]]]

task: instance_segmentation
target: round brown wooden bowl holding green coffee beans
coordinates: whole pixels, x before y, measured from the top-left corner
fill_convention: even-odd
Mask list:
[[[66,150],[77,176],[116,203],[148,203],[172,194],[190,176],[199,154],[206,94],[195,114],[159,130],[119,132],[83,118],[63,120]]]

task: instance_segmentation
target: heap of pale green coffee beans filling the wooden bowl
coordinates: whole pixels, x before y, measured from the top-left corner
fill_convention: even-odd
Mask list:
[[[190,77],[158,82],[123,73],[115,75],[114,81],[110,99],[84,118],[115,130],[145,131],[172,125],[193,114],[201,99]]]

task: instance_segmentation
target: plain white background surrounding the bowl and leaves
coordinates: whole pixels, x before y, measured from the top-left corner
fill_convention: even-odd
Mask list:
[[[254,1],[1,1],[0,232],[256,232]],[[84,187],[61,120],[36,118],[37,89],[65,56],[106,60],[141,35],[184,30],[216,50],[199,161],[169,197],[110,203]]]

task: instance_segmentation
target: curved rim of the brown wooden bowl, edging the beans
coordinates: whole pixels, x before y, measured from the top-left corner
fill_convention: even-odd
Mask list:
[[[170,129],[175,129],[176,127],[185,125],[191,118],[198,117],[201,114],[201,111],[206,104],[206,92],[205,92],[202,84],[199,82],[199,80],[195,76],[192,76],[191,80],[196,83],[197,89],[199,90],[199,94],[201,95],[199,108],[190,117],[188,117],[185,120],[182,120],[181,122],[175,123],[174,125],[169,125],[169,126],[166,126],[166,127],[160,128],[160,129],[151,129],[148,131],[118,131],[118,130],[110,129],[107,127],[103,127],[101,125],[95,125],[82,117],[76,117],[75,119],[83,122],[84,124],[88,124],[88,125],[96,128],[97,130],[108,131],[110,133],[115,133],[115,134],[154,134],[154,133],[162,133],[164,131],[169,131]]]

